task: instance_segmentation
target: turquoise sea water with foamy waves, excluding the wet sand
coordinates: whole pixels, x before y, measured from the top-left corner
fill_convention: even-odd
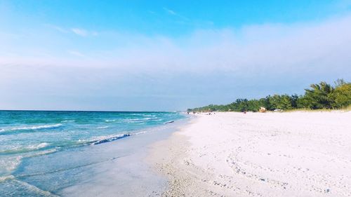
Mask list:
[[[183,117],[172,112],[0,111],[0,196],[55,196],[88,179],[89,166],[131,154],[127,141],[118,149],[118,140]],[[104,147],[112,141],[116,148]]]

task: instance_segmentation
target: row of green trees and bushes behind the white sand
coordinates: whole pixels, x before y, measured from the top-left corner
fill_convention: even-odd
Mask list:
[[[210,104],[187,111],[258,111],[282,109],[350,109],[351,83],[338,79],[335,86],[322,81],[305,89],[305,95],[268,95],[258,100],[237,99],[230,104]]]

